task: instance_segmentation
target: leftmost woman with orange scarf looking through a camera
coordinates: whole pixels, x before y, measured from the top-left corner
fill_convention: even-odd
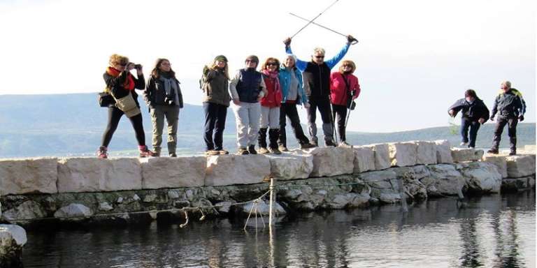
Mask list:
[[[108,68],[103,74],[104,82],[106,83],[107,91],[113,94],[114,98],[124,98],[129,94],[134,98],[134,102],[140,107],[138,103],[138,94],[134,89],[144,89],[145,80],[143,79],[142,66],[129,62],[129,58],[113,54],[108,61]],[[136,67],[136,76],[131,74],[131,70]],[[101,140],[101,146],[97,151],[97,157],[108,158],[108,144],[112,140],[117,125],[120,124],[120,119],[124,112],[112,103],[108,106],[108,125],[103,133]],[[145,146],[145,133],[143,131],[142,114],[136,114],[133,117],[129,117],[131,124],[136,132],[136,140],[138,141],[138,151],[140,151],[140,157],[153,156],[153,152]]]

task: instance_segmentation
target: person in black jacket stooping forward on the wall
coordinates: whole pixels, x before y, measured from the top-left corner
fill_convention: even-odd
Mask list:
[[[489,109],[487,105],[478,98],[473,89],[464,92],[464,98],[451,105],[448,113],[455,117],[461,111],[461,146],[468,145],[468,148],[475,148],[475,139],[478,137],[478,130],[482,124],[489,119]],[[468,128],[470,129],[470,139],[468,140]]]

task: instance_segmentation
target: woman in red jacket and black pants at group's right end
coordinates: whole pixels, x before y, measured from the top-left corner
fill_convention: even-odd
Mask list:
[[[350,147],[345,137],[345,117],[352,101],[360,94],[358,78],[352,75],[356,65],[350,60],[341,62],[338,72],[330,75],[330,103],[332,104],[332,118],[338,123],[338,134],[341,147]]]

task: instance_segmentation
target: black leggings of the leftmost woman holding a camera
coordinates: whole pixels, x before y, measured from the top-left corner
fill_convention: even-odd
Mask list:
[[[112,140],[112,135],[114,135],[117,125],[120,124],[120,119],[123,116],[124,112],[117,109],[116,107],[108,107],[108,126],[103,133],[103,138],[101,140],[101,146],[108,147],[110,140]],[[138,145],[145,145],[145,133],[143,133],[143,124],[142,124],[142,114],[137,114],[134,117],[130,117],[132,127],[136,133],[136,140]]]

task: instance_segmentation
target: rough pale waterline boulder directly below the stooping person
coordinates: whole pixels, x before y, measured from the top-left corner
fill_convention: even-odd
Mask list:
[[[468,191],[481,193],[499,193],[501,188],[501,174],[493,163],[473,162],[468,168],[461,170],[466,179]]]

